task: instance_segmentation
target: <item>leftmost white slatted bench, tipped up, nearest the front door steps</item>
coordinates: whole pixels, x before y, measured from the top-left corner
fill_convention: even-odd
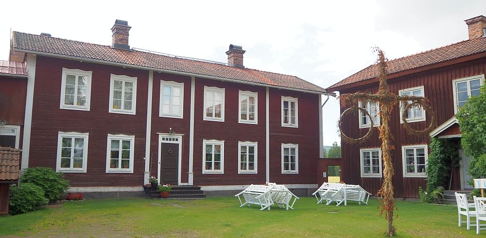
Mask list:
[[[260,211],[264,209],[270,210],[270,206],[274,204],[270,190],[272,190],[273,186],[266,186],[266,185],[250,185],[245,190],[241,191],[240,193],[236,194],[235,197],[238,197],[240,200],[240,204],[242,206],[251,204],[259,205]],[[244,203],[241,199],[243,196]]]

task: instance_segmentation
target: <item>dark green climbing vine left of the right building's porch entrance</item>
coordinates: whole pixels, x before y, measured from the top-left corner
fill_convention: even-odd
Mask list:
[[[459,166],[459,144],[448,139],[432,138],[429,145],[430,154],[427,160],[427,189],[431,193],[439,186],[447,185],[451,167]]]

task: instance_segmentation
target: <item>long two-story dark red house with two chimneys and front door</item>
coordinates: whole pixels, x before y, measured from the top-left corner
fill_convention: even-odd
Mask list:
[[[63,172],[72,191],[142,191],[160,183],[240,190],[276,182],[317,187],[323,88],[228,63],[130,48],[126,21],[111,46],[13,32],[25,59],[21,167]]]

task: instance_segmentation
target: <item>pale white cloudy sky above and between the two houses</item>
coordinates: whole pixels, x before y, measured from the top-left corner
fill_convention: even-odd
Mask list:
[[[375,62],[468,38],[464,20],[486,15],[484,0],[360,1],[5,1],[0,59],[10,30],[111,44],[115,19],[128,21],[130,47],[227,62],[229,44],[248,68],[329,87]],[[82,2],[82,3],[81,3]],[[340,143],[337,99],[324,106],[324,144]]]

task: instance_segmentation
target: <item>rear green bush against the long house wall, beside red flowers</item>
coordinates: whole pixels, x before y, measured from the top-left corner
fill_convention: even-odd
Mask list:
[[[53,202],[63,198],[64,193],[69,188],[69,181],[64,179],[60,172],[54,172],[51,168],[36,167],[23,170],[20,177],[22,183],[33,183],[42,188],[45,197]]]

